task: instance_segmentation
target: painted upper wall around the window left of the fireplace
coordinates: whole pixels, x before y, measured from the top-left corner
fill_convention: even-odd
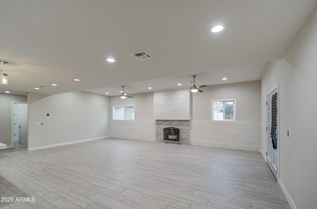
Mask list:
[[[134,98],[121,99],[120,96],[110,97],[110,119],[112,119],[112,106],[135,105],[134,119],[154,119],[153,92],[131,95]]]

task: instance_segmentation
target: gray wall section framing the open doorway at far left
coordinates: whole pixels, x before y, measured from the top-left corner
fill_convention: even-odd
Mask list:
[[[27,96],[0,93],[0,143],[8,147],[13,147],[11,142],[12,101],[27,102]]]

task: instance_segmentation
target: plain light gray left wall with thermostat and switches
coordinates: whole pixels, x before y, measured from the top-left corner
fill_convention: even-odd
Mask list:
[[[54,95],[29,93],[28,105],[28,147],[31,149],[109,135],[109,98],[106,96],[84,91]]]

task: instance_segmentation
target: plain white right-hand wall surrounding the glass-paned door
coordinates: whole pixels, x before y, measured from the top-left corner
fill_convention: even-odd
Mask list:
[[[279,84],[279,181],[292,208],[317,206],[317,11],[283,60],[270,63],[262,84],[262,140],[266,152],[265,94]],[[286,131],[291,129],[291,138]]]

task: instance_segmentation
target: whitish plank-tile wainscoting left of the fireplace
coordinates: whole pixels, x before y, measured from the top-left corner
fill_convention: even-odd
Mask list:
[[[156,141],[155,120],[111,120],[110,137]]]

